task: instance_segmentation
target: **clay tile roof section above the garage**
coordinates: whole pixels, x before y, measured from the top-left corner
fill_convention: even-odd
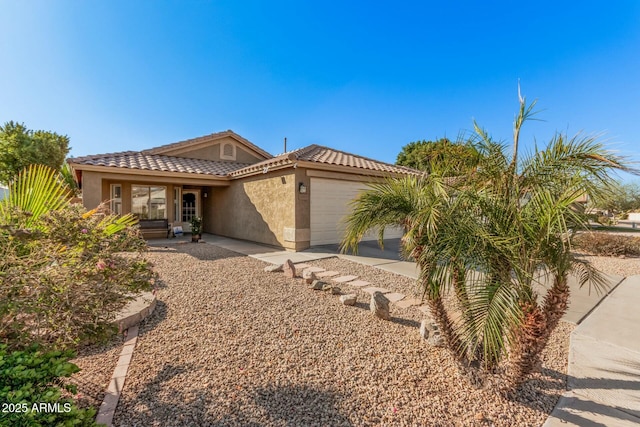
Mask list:
[[[231,176],[237,177],[256,172],[264,172],[265,169],[293,165],[297,162],[316,163],[318,165],[334,165],[358,168],[362,171],[374,171],[383,173],[416,174],[415,169],[404,166],[392,165],[356,154],[346,153],[333,148],[312,144],[298,150],[280,154],[272,159],[254,163],[246,168],[231,172]]]

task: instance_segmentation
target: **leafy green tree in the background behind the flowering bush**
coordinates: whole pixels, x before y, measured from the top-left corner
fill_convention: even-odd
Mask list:
[[[27,129],[24,123],[7,122],[0,127],[0,183],[7,184],[32,164],[60,170],[69,153],[69,137]]]

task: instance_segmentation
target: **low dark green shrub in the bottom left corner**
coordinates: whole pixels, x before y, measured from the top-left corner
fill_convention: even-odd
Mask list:
[[[79,368],[69,363],[70,351],[43,352],[36,346],[7,352],[0,345],[0,425],[2,426],[97,426],[95,409],[79,409],[60,378]]]

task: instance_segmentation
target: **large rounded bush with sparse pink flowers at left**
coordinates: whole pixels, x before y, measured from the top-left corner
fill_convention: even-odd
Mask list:
[[[153,286],[127,217],[79,205],[0,203],[0,344],[70,347],[105,337],[132,294]]]

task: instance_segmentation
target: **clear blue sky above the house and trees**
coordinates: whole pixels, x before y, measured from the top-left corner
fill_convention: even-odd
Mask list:
[[[473,119],[508,140],[520,80],[545,120],[525,145],[604,132],[640,159],[636,0],[0,0],[0,43],[0,121],[73,156],[232,129],[392,163]]]

